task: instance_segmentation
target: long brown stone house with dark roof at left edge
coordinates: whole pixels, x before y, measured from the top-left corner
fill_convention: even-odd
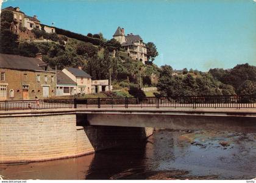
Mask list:
[[[40,58],[0,54],[0,100],[55,96],[55,72]]]

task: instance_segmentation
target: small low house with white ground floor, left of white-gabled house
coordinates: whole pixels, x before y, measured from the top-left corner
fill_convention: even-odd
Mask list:
[[[76,82],[64,72],[57,71],[57,96],[76,94]]]

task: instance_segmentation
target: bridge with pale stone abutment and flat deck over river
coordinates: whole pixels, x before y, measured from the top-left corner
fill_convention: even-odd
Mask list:
[[[155,127],[256,131],[256,109],[63,108],[0,111],[0,162],[81,156],[140,141]]]

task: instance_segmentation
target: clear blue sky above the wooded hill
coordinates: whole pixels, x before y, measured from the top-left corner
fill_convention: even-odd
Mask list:
[[[254,0],[8,0],[2,8],[20,7],[44,24],[111,39],[118,26],[152,41],[155,64],[174,69],[230,68],[256,65]]]

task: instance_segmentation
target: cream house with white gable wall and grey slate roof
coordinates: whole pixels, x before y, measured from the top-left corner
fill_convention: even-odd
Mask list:
[[[91,94],[91,76],[82,71],[82,67],[66,67],[62,72],[76,82],[76,94]]]

